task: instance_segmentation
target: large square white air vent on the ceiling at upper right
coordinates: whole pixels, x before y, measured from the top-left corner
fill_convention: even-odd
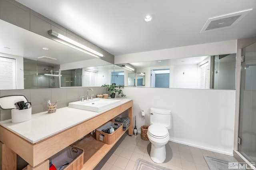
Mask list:
[[[225,14],[222,16],[216,16],[209,18],[207,22],[204,24],[200,33],[209,32],[214,30],[221,30],[224,28],[231,28],[236,23],[238,23],[246,14],[248,14],[252,8],[248,10],[233,12],[230,14]]]

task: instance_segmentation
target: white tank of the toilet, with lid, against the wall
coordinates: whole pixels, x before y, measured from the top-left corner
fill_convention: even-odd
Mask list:
[[[167,129],[172,128],[172,114],[170,110],[150,108],[150,125],[160,124]]]

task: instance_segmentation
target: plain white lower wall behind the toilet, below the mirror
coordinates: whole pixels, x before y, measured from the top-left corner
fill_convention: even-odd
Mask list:
[[[149,125],[150,107],[172,111],[170,140],[223,154],[233,154],[234,90],[125,87],[134,101],[138,131]],[[146,117],[140,112],[144,110]]]

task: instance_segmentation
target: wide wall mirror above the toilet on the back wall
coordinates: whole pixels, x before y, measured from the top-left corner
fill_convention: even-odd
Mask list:
[[[235,53],[129,63],[129,65],[136,70],[134,81],[138,87],[235,89]],[[124,82],[129,80],[129,73],[124,74]]]

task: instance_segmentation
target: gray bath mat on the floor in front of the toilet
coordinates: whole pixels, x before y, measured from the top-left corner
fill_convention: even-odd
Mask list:
[[[160,165],[153,164],[143,159],[137,159],[133,170],[170,170]]]

